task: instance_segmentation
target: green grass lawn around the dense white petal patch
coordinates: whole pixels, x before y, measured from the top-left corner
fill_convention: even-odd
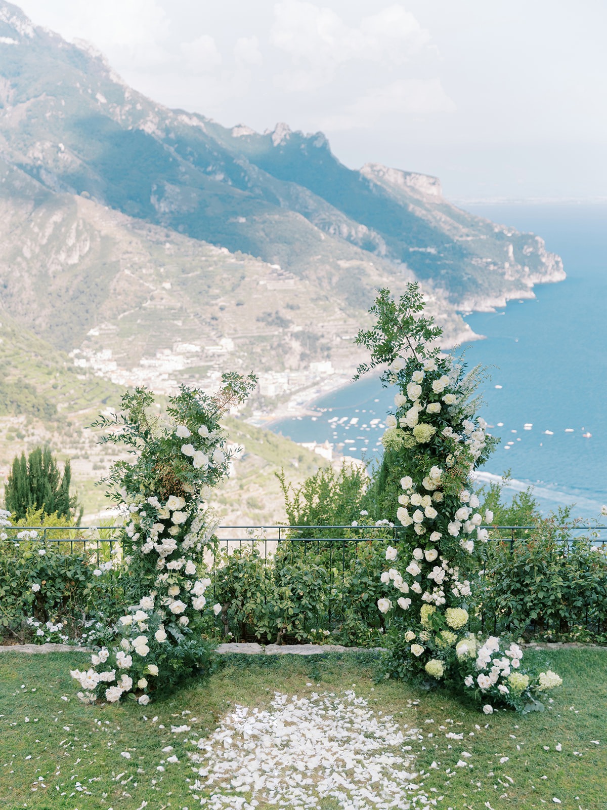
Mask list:
[[[150,810],[193,810],[200,806],[189,791],[193,735],[214,731],[235,704],[267,706],[276,690],[304,697],[354,687],[378,716],[420,730],[410,741],[416,782],[439,808],[607,810],[607,650],[550,650],[563,686],[548,710],[526,716],[486,716],[445,694],[374,683],[371,652],[233,656],[210,680],[146,707],[83,706],[69,670],[86,664],[76,653],[0,656],[0,808],[142,810],[147,802]],[[172,733],[183,723],[189,735]],[[169,763],[174,755],[179,762]]]

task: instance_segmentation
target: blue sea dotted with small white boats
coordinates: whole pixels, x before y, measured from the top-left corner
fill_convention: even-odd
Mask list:
[[[607,503],[607,205],[466,207],[543,237],[567,272],[565,281],[537,285],[535,300],[466,318],[486,335],[465,357],[489,367],[481,413],[502,440],[480,478],[509,470],[506,494],[533,485],[545,514],[575,504],[575,516],[596,518]],[[294,441],[329,440],[376,463],[394,393],[376,378],[363,379],[316,400],[317,416],[272,429]]]

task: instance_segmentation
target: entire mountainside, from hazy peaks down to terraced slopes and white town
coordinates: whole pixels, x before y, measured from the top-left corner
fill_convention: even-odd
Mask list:
[[[321,133],[155,104],[91,45],[4,0],[0,244],[0,465],[51,441],[88,488],[110,459],[83,425],[124,386],[166,393],[253,369],[263,416],[347,381],[379,287],[420,280],[451,346],[476,337],[460,311],[564,278],[541,238],[453,206],[435,177],[354,171]],[[278,452],[247,436],[259,453],[239,492]],[[291,444],[280,454],[293,470],[316,463]]]

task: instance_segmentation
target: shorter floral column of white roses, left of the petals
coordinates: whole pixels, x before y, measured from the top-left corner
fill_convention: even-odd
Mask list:
[[[219,425],[229,407],[242,403],[255,377],[223,375],[218,394],[181,386],[159,416],[143,388],[125,394],[122,412],[100,416],[101,441],[126,446],[105,480],[109,497],[125,514],[121,531],[125,606],[111,644],[91,656],[91,667],[71,675],[85,702],[120,701],[145,706],[186,677],[209,669],[206,631],[216,613],[204,554],[215,523],[206,491],[227,475],[230,453]]]

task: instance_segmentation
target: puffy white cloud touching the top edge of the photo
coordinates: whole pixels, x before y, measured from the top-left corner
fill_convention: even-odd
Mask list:
[[[400,5],[352,27],[330,8],[280,0],[274,4],[270,40],[295,64],[295,70],[287,70],[276,83],[288,90],[310,90],[329,83],[337,67],[352,60],[399,65],[419,53],[430,34]]]

